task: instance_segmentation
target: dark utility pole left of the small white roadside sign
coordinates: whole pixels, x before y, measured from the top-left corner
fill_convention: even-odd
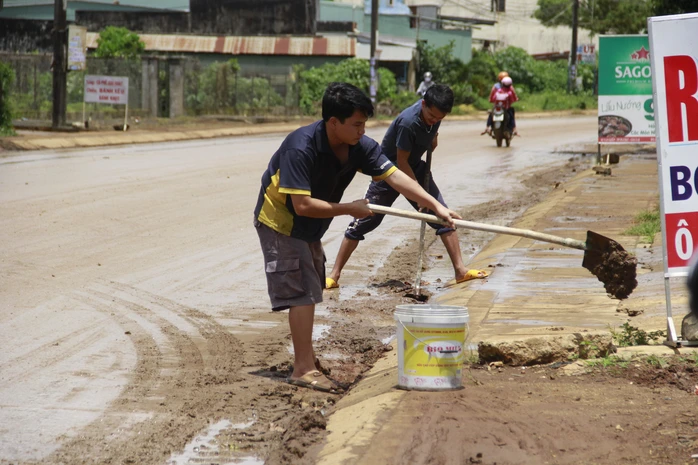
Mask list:
[[[68,26],[67,0],[54,0],[53,9],[53,128],[65,126],[66,112],[66,45]]]

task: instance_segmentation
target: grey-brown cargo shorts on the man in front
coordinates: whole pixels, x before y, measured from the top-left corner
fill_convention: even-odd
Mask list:
[[[322,243],[285,236],[254,221],[264,254],[264,270],[273,311],[322,302],[325,251]]]

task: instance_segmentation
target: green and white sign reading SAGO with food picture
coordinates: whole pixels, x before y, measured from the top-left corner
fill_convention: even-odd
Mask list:
[[[598,141],[655,141],[652,68],[646,35],[599,37]]]

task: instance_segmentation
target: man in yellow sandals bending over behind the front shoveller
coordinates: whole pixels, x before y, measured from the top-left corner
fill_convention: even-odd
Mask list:
[[[451,112],[452,108],[453,91],[446,85],[434,84],[427,89],[422,100],[408,107],[395,118],[383,137],[383,143],[381,144],[383,153],[401,171],[419,182],[420,185],[424,184],[424,177],[427,171],[422,155],[424,155],[427,149],[431,148],[434,150],[438,145],[438,132],[441,120]],[[441,205],[446,206],[433,179],[431,179],[427,191],[438,199]],[[374,180],[369,185],[365,198],[372,204],[389,207],[399,195],[399,192],[393,189],[390,184],[381,180]],[[415,209],[419,209],[417,202],[410,200],[410,203]],[[338,281],[342,269],[349,257],[351,257],[351,254],[356,250],[359,241],[362,241],[366,234],[376,229],[383,221],[384,216],[374,215],[357,218],[349,224],[344,233],[344,240],[339,247],[332,271],[325,280],[327,289],[339,287]],[[461,257],[458,234],[455,229],[432,223],[429,223],[429,226],[436,230],[436,234],[441,237],[446,247],[448,256],[453,264],[456,282],[482,278],[487,275],[484,271],[468,270],[465,267]]]

